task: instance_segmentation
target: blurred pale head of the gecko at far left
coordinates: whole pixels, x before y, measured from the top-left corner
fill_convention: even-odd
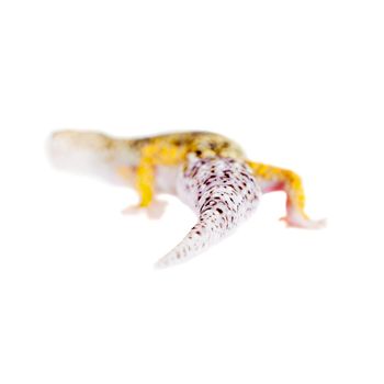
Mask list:
[[[113,182],[122,182],[118,169],[135,161],[127,140],[97,132],[55,132],[48,139],[47,151],[59,169],[100,176]]]

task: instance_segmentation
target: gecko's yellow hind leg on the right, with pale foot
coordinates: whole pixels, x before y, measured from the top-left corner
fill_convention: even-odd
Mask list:
[[[289,226],[301,228],[321,228],[326,221],[313,221],[305,213],[305,193],[302,179],[295,172],[268,166],[261,162],[247,161],[253,174],[260,181],[263,193],[284,191],[286,193],[286,215],[282,217]]]

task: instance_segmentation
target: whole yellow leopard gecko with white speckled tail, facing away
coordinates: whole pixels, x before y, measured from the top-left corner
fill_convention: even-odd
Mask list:
[[[196,224],[156,266],[191,259],[227,236],[258,207],[263,193],[284,191],[289,226],[323,227],[304,212],[301,178],[291,170],[249,160],[231,139],[216,133],[171,133],[112,138],[97,132],[59,131],[49,139],[54,165],[134,187],[139,202],[125,212],[163,211],[158,193],[177,195],[197,215]]]

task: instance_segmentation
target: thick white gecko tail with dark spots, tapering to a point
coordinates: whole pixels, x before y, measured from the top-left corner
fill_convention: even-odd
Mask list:
[[[247,165],[231,158],[190,157],[178,180],[180,199],[199,215],[184,239],[156,267],[184,262],[226,237],[258,206],[261,189]]]

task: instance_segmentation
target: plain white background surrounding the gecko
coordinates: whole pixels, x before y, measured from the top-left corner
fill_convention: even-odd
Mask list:
[[[0,382],[383,383],[381,1],[2,1]],[[294,169],[183,266],[194,224],[126,217],[133,191],[55,171],[49,133],[211,129]]]

